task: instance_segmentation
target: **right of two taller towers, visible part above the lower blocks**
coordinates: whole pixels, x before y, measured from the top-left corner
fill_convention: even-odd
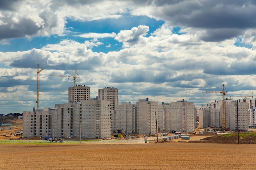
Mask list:
[[[101,100],[110,101],[112,110],[115,110],[118,105],[118,88],[105,87],[98,89],[98,97]]]

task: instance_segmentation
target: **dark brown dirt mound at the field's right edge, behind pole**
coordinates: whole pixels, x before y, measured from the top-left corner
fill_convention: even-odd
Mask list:
[[[200,139],[198,141],[189,141],[193,143],[216,143],[216,144],[238,144],[237,136],[223,137],[223,136],[212,136]],[[239,144],[256,144],[256,136],[247,136],[245,138],[239,138]]]

